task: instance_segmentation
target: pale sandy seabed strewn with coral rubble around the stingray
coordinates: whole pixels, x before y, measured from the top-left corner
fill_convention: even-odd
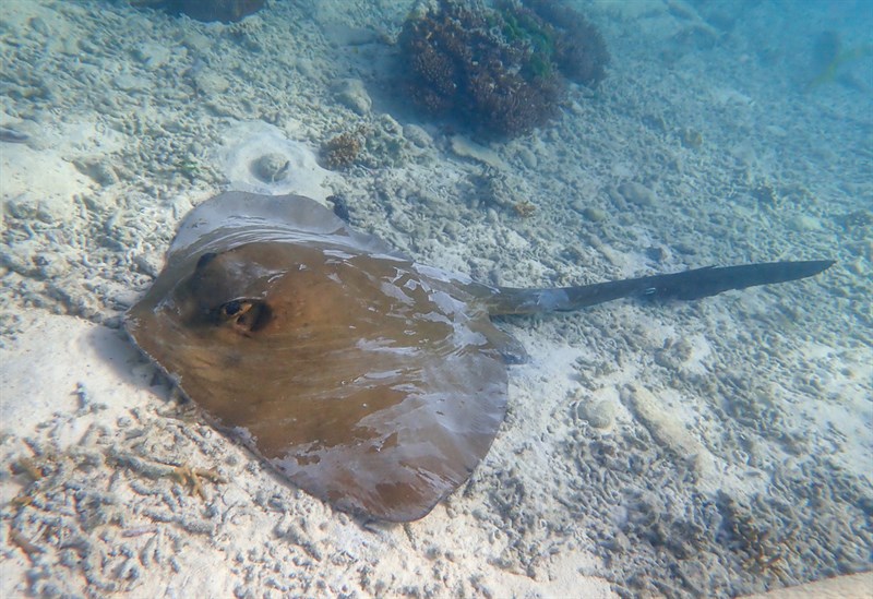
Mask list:
[[[489,144],[397,95],[410,2],[273,0],[207,25],[4,0],[0,596],[723,597],[871,570],[870,57],[847,67],[858,85],[805,89],[838,14],[576,5],[607,80]],[[322,169],[344,132],[366,139],[356,164]],[[247,168],[267,149],[291,160],[282,181]],[[119,330],[178,221],[224,189],[343,195],[356,227],[495,285],[839,263],[502,321],[531,361],[491,453],[386,526],[204,424]]]

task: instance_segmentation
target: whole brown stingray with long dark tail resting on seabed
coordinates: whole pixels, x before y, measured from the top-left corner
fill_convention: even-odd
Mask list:
[[[506,414],[506,364],[526,355],[491,316],[696,299],[832,264],[492,287],[417,264],[313,200],[227,192],[186,216],[125,326],[210,422],[295,486],[409,522],[469,478]]]

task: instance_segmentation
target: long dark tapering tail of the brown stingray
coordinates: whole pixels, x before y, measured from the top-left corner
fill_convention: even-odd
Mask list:
[[[742,266],[707,266],[671,275],[653,275],[582,287],[555,289],[501,287],[487,298],[488,312],[492,315],[566,312],[626,297],[694,300],[730,289],[745,289],[756,285],[811,277],[833,264],[833,260],[768,262]]]

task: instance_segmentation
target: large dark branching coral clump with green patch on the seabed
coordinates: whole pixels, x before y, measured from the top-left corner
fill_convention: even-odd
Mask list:
[[[609,61],[597,29],[551,0],[439,0],[407,19],[399,45],[416,105],[505,136],[554,117],[565,81],[596,85]]]

